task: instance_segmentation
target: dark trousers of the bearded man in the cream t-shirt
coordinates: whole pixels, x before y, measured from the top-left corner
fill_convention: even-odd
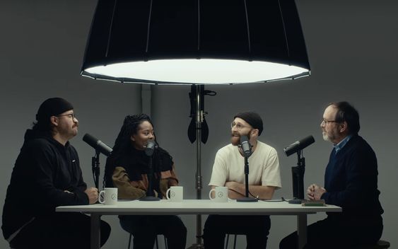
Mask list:
[[[209,215],[204,224],[204,248],[222,249],[226,234],[246,236],[247,249],[267,248],[269,216]]]

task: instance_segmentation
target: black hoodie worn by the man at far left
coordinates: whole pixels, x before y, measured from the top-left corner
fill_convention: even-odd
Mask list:
[[[88,204],[78,154],[69,142],[28,129],[16,159],[3,208],[4,238],[34,217],[50,216],[55,207]],[[65,192],[65,190],[71,192]]]

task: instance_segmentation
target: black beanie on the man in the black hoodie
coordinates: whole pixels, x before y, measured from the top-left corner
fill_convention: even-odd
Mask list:
[[[49,117],[57,116],[62,112],[74,109],[73,105],[63,98],[48,98],[37,110],[37,122],[49,122]]]

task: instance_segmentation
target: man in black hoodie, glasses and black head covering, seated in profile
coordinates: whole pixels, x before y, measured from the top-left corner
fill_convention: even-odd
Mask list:
[[[90,248],[90,217],[56,213],[63,205],[93,204],[98,190],[83,181],[76,149],[74,108],[62,98],[40,105],[16,159],[3,208],[4,238],[11,248]],[[101,221],[101,245],[110,226]]]

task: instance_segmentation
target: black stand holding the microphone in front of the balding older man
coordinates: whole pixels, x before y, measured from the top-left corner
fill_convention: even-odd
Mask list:
[[[291,167],[293,180],[293,199],[289,200],[290,204],[301,204],[304,199],[304,172],[305,158],[303,150],[297,151],[297,166]]]

